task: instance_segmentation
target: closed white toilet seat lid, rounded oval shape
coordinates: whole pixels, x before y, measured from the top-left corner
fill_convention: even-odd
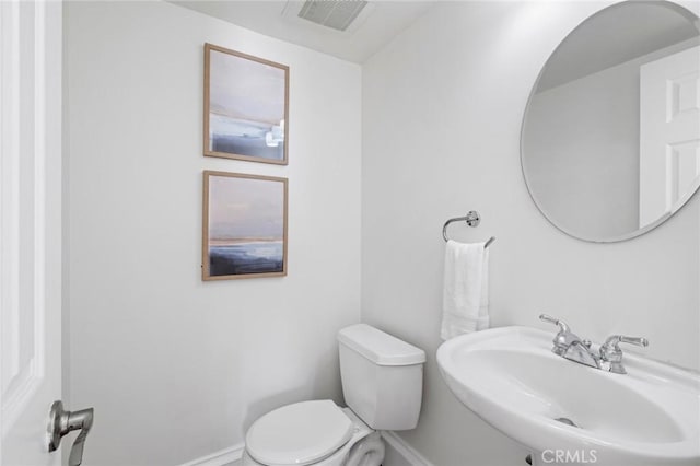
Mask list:
[[[260,417],[246,434],[246,450],[269,466],[310,465],[332,455],[353,434],[350,418],[329,399],[283,406]]]

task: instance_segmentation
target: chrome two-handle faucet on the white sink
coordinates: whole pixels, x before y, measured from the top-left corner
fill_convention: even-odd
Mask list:
[[[641,337],[626,337],[623,335],[614,335],[605,340],[596,353],[591,349],[590,340],[582,340],[578,335],[571,331],[569,326],[558,318],[547,314],[540,314],[539,319],[559,326],[559,333],[552,340],[553,347],[551,351],[568,360],[591,368],[609,371],[615,374],[627,374],[622,365],[622,350],[619,343],[632,343],[641,347],[649,346],[649,340]]]

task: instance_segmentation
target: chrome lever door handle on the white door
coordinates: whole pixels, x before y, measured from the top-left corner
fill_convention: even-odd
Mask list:
[[[83,462],[83,446],[92,428],[93,416],[93,408],[71,412],[63,409],[61,401],[54,401],[48,415],[48,451],[55,452],[61,443],[61,438],[68,432],[80,430],[68,458],[68,466],[80,466]]]

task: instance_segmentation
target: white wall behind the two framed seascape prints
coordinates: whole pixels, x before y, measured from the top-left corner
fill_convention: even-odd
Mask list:
[[[174,465],[262,412],[341,401],[360,312],[357,65],[163,2],[66,8],[73,409],[93,465]],[[290,66],[290,164],[203,158],[210,42]],[[289,177],[289,276],[203,283],[201,172]]]

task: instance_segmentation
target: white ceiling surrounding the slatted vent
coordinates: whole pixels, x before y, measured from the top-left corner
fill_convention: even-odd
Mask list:
[[[282,0],[170,0],[172,3],[282,40],[362,63],[425,13],[434,1],[370,0],[373,9],[352,32],[338,32],[282,15]],[[292,0],[299,3],[296,0]]]

